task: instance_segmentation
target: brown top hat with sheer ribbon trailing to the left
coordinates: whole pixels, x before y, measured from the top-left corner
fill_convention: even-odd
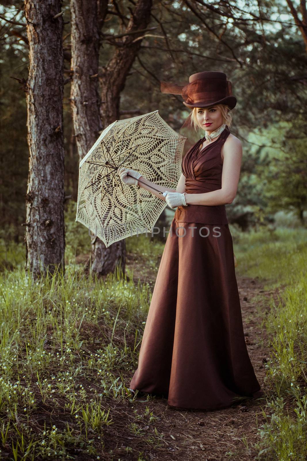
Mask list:
[[[181,95],[187,107],[207,107],[225,104],[233,109],[237,99],[232,96],[232,83],[224,72],[197,72],[189,77],[189,83],[161,82],[162,93]]]

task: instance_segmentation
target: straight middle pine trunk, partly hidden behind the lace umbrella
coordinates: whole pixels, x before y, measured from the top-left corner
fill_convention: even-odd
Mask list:
[[[73,71],[70,100],[79,161],[93,146],[102,128],[98,94],[99,24],[104,20],[107,6],[106,0],[99,4],[97,0],[70,0]],[[97,248],[91,269],[99,274],[113,272],[118,260],[114,250],[115,247],[122,250],[122,242],[116,242],[107,253],[104,243],[98,237],[93,237],[91,244],[92,248]]]

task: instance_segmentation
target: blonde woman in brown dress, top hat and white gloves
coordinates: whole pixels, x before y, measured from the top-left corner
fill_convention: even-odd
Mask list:
[[[204,136],[182,160],[169,190],[121,168],[124,183],[163,192],[177,207],[153,290],[130,391],[180,408],[215,409],[263,394],[244,339],[226,203],[237,193],[242,146],[229,131],[236,105],[223,72],[199,72],[185,87],[162,83],[192,108]],[[128,176],[127,176],[128,175]],[[163,200],[158,192],[152,192]]]

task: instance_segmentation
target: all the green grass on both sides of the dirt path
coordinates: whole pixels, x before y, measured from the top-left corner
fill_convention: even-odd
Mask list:
[[[281,288],[263,317],[271,356],[257,459],[305,460],[307,231],[231,231],[237,272]],[[164,243],[129,237],[137,277],[128,269],[97,278],[75,264],[88,247],[82,232],[68,225],[64,276],[33,282],[22,244],[0,254],[0,459],[142,461],[165,446],[159,415],[146,401],[137,411],[126,394],[151,301],[143,275],[157,271]]]

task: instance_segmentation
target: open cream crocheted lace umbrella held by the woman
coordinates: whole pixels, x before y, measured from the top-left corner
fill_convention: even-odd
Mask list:
[[[179,181],[186,138],[176,133],[158,112],[116,120],[101,133],[79,164],[75,220],[97,235],[106,247],[151,231],[167,206],[148,190],[122,183],[117,174],[119,167],[139,171],[165,188],[175,188]]]

